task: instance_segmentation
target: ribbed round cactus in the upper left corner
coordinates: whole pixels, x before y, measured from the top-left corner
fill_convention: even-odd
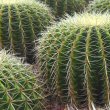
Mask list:
[[[1,47],[33,63],[34,40],[52,19],[50,10],[34,0],[0,0]]]

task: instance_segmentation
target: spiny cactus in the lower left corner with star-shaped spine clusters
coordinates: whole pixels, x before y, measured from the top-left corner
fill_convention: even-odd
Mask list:
[[[31,68],[0,51],[0,110],[44,110],[42,98]]]

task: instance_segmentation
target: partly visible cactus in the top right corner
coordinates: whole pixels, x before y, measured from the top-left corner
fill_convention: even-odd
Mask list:
[[[110,12],[110,0],[94,0],[88,5],[89,12]]]

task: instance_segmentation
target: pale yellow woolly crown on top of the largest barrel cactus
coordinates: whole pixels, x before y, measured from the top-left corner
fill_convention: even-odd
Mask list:
[[[106,15],[106,16],[105,16]],[[69,21],[73,21],[72,24],[78,26],[84,26],[84,27],[89,27],[89,26],[104,26],[104,25],[109,25],[110,24],[110,17],[106,13],[104,15],[101,14],[89,14],[89,13],[84,13],[81,15],[75,15],[74,18],[71,17]],[[67,22],[67,20],[66,20]]]

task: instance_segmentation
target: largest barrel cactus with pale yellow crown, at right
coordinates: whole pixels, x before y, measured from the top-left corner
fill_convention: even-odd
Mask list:
[[[52,95],[78,109],[110,101],[110,15],[81,14],[62,20],[43,34],[39,72]],[[85,109],[84,109],[85,110]]]

